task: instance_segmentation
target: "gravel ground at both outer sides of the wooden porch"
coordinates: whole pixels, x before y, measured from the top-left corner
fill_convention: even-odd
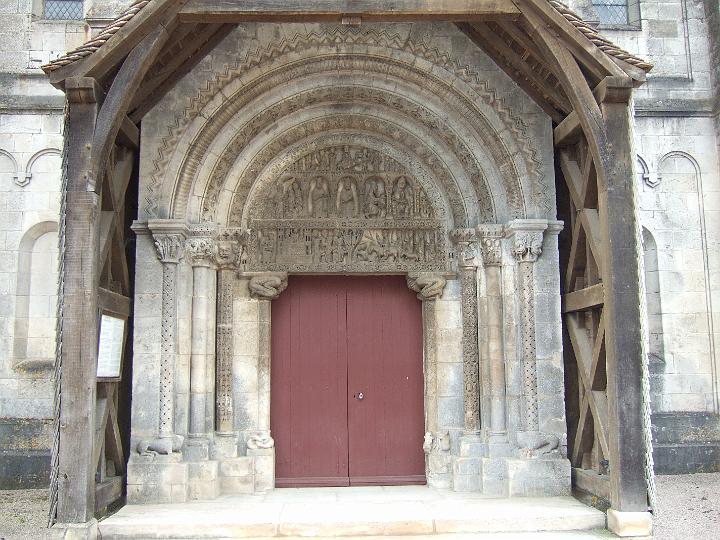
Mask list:
[[[718,538],[720,473],[660,476],[657,485],[657,540]],[[44,538],[46,504],[44,490],[0,491],[0,540]]]

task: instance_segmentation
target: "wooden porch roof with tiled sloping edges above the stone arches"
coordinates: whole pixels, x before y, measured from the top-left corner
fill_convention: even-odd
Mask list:
[[[70,77],[92,77],[108,88],[129,52],[150,32],[169,36],[147,70],[128,109],[137,123],[236,24],[258,22],[363,22],[437,20],[458,25],[556,123],[573,107],[534,38],[546,27],[572,53],[590,88],[607,76],[642,84],[652,65],[604,38],[557,0],[139,0],[81,47],[43,66],[64,88]]]

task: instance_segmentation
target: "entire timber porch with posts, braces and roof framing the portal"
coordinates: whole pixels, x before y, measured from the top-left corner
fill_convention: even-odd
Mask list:
[[[141,0],[44,66],[68,103],[51,520],[88,522],[120,495],[117,383],[97,382],[98,328],[103,312],[131,317],[125,200],[143,116],[238,23],[420,20],[457,24],[554,122],[573,479],[615,511],[647,510],[629,101],[651,66],[555,0]]]

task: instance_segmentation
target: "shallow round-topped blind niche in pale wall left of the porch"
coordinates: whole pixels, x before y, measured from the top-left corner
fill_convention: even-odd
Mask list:
[[[15,300],[15,367],[52,367],[57,309],[57,223],[43,221],[20,241]]]

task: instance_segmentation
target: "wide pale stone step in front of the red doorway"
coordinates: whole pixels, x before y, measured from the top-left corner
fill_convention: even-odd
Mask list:
[[[605,514],[572,497],[489,498],[425,486],[378,486],[275,489],[213,501],[128,505],[101,521],[99,532],[103,540],[413,535],[460,540],[458,533],[547,531],[562,538],[556,533],[604,527]]]

